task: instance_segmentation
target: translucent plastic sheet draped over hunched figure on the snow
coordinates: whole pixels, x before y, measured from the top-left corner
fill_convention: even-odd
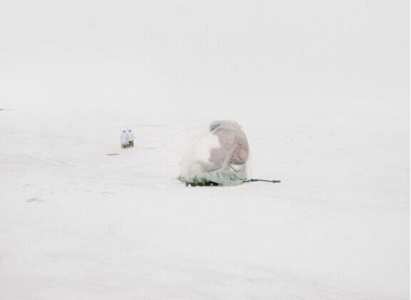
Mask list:
[[[214,121],[185,133],[178,180],[188,185],[240,185],[247,180],[248,140],[233,121]],[[181,145],[180,145],[181,146]]]

